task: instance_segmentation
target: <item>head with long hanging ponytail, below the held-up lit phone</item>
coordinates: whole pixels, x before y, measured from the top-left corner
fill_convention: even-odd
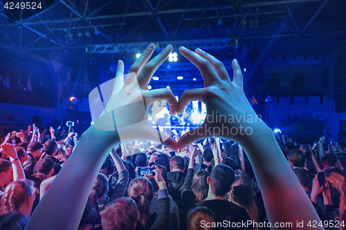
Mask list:
[[[149,204],[154,197],[152,182],[145,178],[136,178],[132,180],[127,189],[127,194],[134,199],[139,211],[138,222],[142,227],[149,227],[151,221],[151,211]]]

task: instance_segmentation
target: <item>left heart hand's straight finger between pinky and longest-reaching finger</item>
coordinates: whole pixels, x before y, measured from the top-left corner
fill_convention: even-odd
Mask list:
[[[138,59],[129,69],[129,73],[134,73],[134,75],[128,74],[125,80],[125,84],[131,84],[132,82],[134,82],[134,80],[140,73],[140,70],[142,70],[143,66],[147,63],[149,58],[152,57],[152,53],[154,52],[154,50],[155,45],[149,44],[149,46],[144,50],[143,54],[138,57]]]

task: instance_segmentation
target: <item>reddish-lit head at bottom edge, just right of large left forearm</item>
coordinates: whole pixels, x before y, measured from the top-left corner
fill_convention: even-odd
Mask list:
[[[133,199],[123,197],[109,204],[101,212],[101,225],[103,230],[134,230],[138,209]]]

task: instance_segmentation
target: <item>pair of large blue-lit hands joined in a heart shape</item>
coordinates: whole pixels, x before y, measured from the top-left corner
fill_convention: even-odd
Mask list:
[[[154,44],[147,47],[131,66],[129,74],[125,77],[125,83],[124,65],[122,61],[118,61],[116,78],[91,91],[89,103],[95,128],[102,131],[117,131],[122,143],[152,140],[161,142],[174,151],[205,137],[237,139],[252,133],[248,119],[257,120],[257,115],[244,95],[242,71],[237,60],[233,60],[232,63],[233,82],[231,82],[221,61],[200,49],[192,52],[181,47],[181,54],[199,68],[205,87],[185,90],[179,102],[176,102],[170,89],[148,90],[152,75],[170,55],[172,46],[168,45],[147,63],[154,49]],[[149,124],[147,108],[158,100],[166,100],[173,115],[183,113],[190,101],[200,100],[207,105],[207,117],[202,126],[185,133],[177,143],[170,135],[152,128]]]

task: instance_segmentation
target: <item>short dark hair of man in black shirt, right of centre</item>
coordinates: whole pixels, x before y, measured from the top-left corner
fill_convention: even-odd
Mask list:
[[[210,173],[210,184],[212,192],[217,195],[226,195],[230,191],[230,186],[235,180],[233,169],[224,164],[218,164],[212,168]]]

